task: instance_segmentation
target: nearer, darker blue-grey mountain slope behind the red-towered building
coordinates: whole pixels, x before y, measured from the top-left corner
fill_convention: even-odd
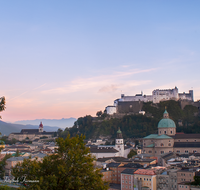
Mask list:
[[[39,123],[40,124],[40,123]],[[22,124],[14,124],[14,123],[6,123],[0,121],[0,132],[2,135],[8,136],[10,133],[19,133],[21,129],[38,129],[38,125],[22,125]],[[51,127],[44,125],[44,131],[57,131],[59,127]]]

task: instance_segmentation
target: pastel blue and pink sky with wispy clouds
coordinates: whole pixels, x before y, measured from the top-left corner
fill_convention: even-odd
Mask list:
[[[0,0],[3,121],[95,116],[121,94],[194,90],[200,1]]]

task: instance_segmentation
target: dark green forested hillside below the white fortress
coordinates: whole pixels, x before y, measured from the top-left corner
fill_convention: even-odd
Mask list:
[[[65,137],[67,133],[71,136],[85,134],[86,139],[98,138],[100,135],[112,138],[116,137],[116,131],[120,127],[124,138],[144,137],[151,133],[157,133],[157,125],[163,117],[167,108],[170,118],[177,126],[177,132],[200,133],[200,117],[198,109],[187,105],[182,110],[179,102],[166,101],[159,104],[144,103],[143,110],[146,115],[125,115],[123,118],[109,118],[91,116],[80,117],[72,128],[65,129],[60,135]],[[178,125],[182,122],[182,126]]]

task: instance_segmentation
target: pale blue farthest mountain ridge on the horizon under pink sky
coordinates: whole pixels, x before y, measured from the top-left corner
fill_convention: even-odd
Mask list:
[[[15,124],[22,124],[22,125],[39,125],[40,122],[43,123],[45,126],[50,127],[59,127],[59,128],[66,128],[72,127],[76,118],[62,118],[62,119],[35,119],[35,120],[22,120],[16,121]]]

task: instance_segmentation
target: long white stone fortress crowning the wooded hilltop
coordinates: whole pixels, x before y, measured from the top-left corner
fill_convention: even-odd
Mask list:
[[[139,113],[143,102],[153,102],[156,104],[168,100],[186,101],[187,104],[194,102],[193,90],[189,90],[189,93],[178,93],[178,88],[175,87],[174,89],[153,90],[152,95],[143,95],[142,92],[135,96],[121,94],[121,98],[116,99],[113,106],[106,107],[106,112],[109,115],[114,113]]]

